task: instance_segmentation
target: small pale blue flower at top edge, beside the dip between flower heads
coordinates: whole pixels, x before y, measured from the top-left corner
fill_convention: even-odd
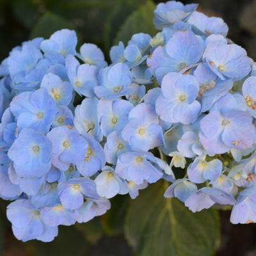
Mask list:
[[[83,44],[80,47],[81,59],[84,63],[95,65],[98,68],[106,67],[103,52],[95,44]]]

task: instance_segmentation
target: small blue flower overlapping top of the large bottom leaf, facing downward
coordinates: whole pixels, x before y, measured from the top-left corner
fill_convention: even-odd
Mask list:
[[[178,179],[173,182],[164,192],[164,197],[177,197],[180,201],[185,202],[189,196],[197,191],[196,184],[188,179]]]

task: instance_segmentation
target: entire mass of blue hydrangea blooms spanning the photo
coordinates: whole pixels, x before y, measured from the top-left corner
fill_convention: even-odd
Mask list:
[[[109,65],[68,29],[1,63],[0,196],[17,239],[52,241],[161,179],[193,212],[232,205],[232,223],[256,222],[256,65],[196,7],[158,4],[159,33],[119,42]]]

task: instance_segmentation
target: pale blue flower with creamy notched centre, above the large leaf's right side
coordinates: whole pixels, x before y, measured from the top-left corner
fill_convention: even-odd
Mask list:
[[[188,166],[188,178],[192,182],[202,183],[205,180],[216,180],[220,177],[222,163],[219,159],[205,161],[205,155],[198,156]]]

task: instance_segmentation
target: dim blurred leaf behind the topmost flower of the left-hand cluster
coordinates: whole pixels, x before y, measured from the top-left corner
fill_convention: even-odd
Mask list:
[[[35,27],[31,31],[30,38],[35,38],[38,36],[49,38],[49,36],[51,36],[51,34],[56,30],[63,28],[73,29],[74,27],[70,25],[70,22],[63,19],[59,15],[47,11],[35,24]]]

